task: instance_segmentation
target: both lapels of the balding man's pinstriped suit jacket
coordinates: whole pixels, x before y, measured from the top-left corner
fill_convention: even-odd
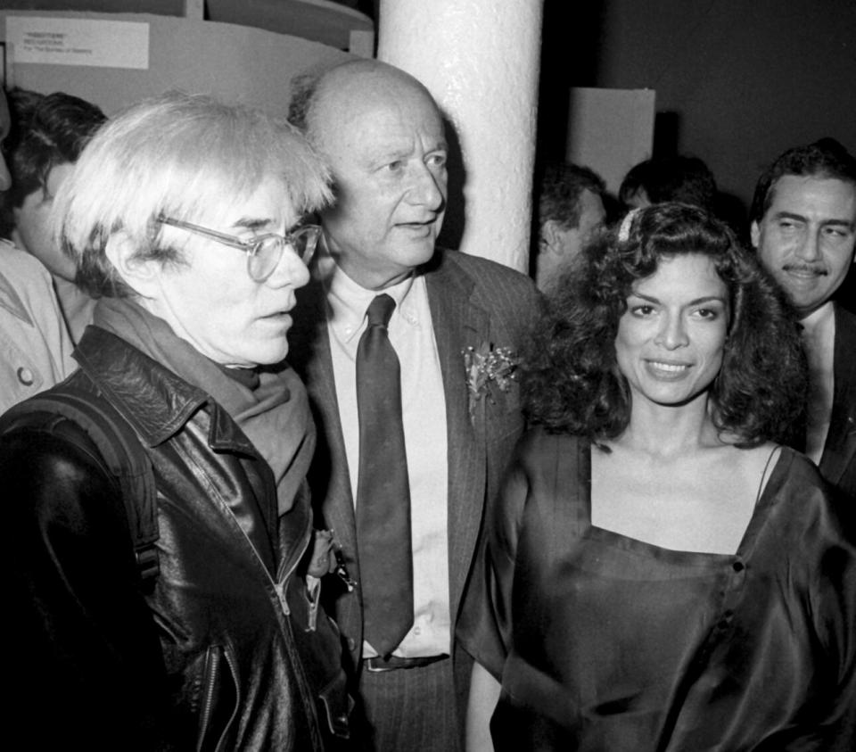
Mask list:
[[[490,317],[471,302],[474,283],[463,270],[451,272],[448,262],[440,260],[436,268],[425,271],[425,281],[446,397],[449,607],[454,624],[481,525],[487,472],[483,412],[471,421],[463,351],[466,347],[490,341]],[[298,373],[305,376],[317,423],[319,441],[313,463],[313,472],[317,474],[312,478],[313,493],[323,495],[325,524],[335,530],[342,548],[355,551],[354,501],[350,492],[330,338],[326,328],[324,285],[313,279],[297,294],[295,321],[289,334],[289,360]],[[333,467],[339,467],[340,471],[320,477],[325,468],[331,467],[328,457],[322,454],[325,451],[330,457],[337,458]],[[351,576],[359,579],[357,562],[349,561],[348,567]],[[357,634],[360,620],[356,612],[350,613],[355,601],[341,600],[348,604],[348,613],[340,612],[337,616],[349,622],[349,633]],[[353,624],[350,624],[351,617]]]

